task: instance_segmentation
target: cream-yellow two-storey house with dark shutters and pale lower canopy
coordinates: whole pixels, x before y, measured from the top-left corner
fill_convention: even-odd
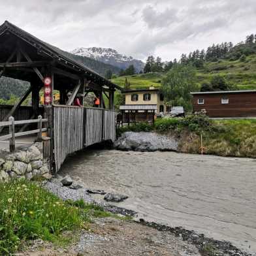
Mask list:
[[[120,106],[125,123],[153,121],[155,114],[166,112],[163,94],[153,86],[150,89],[124,90],[125,104]]]

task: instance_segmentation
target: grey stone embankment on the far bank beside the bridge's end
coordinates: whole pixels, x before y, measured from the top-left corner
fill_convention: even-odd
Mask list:
[[[174,136],[129,131],[116,140],[114,147],[117,150],[138,152],[178,151],[178,140]]]

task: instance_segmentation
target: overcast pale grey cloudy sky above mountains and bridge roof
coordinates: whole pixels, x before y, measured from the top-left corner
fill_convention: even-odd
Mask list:
[[[180,57],[256,33],[255,0],[0,0],[12,22],[63,49],[114,48],[145,59]]]

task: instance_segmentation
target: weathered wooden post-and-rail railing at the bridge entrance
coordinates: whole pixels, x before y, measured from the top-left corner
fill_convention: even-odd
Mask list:
[[[14,117],[10,116],[8,121],[0,121],[0,127],[9,127],[9,134],[0,136],[0,141],[2,140],[9,140],[9,148],[10,152],[15,151],[15,138],[25,135],[33,135],[37,133],[37,141],[42,141],[42,132],[47,131],[47,128],[42,128],[42,123],[48,121],[47,119],[42,119],[42,116],[38,116],[38,119],[33,120],[21,120],[21,121],[15,121]],[[25,124],[31,124],[31,123],[37,123],[37,129],[31,130],[31,131],[23,131],[20,133],[15,133],[15,125],[25,125]]]

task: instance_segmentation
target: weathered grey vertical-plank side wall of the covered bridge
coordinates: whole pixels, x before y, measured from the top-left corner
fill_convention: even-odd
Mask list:
[[[115,112],[103,108],[54,105],[56,172],[67,155],[103,140],[116,138]]]

